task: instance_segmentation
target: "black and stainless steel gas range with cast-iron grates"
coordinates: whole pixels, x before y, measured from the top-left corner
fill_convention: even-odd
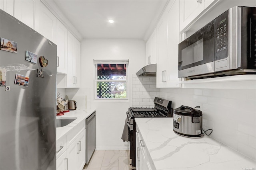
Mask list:
[[[127,125],[130,129],[130,159],[133,169],[136,167],[136,122],[138,117],[172,117],[172,101],[156,97],[154,108],[130,107],[127,114]]]

